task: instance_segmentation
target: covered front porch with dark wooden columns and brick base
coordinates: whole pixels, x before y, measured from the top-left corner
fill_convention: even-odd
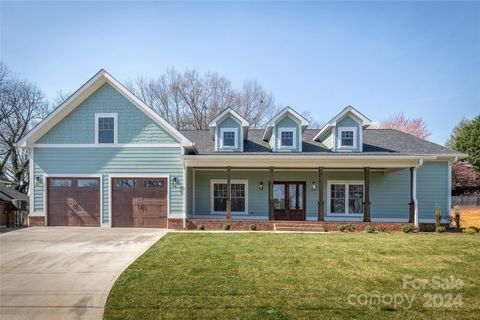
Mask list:
[[[354,223],[399,230],[419,223],[417,166],[418,160],[382,167],[187,167],[184,226],[274,230],[295,222],[336,230]],[[170,220],[169,227],[177,224]]]

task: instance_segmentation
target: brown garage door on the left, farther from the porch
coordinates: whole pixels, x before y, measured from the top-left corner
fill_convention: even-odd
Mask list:
[[[100,226],[100,179],[48,178],[49,226]]]

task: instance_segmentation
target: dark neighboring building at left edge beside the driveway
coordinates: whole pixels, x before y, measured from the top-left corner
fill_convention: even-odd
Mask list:
[[[4,179],[5,184],[10,184]],[[0,184],[0,227],[23,225],[22,212],[27,210],[28,196]]]

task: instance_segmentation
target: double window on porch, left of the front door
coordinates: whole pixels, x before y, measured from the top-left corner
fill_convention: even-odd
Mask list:
[[[230,183],[232,195],[232,212],[247,212],[247,182],[233,181]],[[227,211],[228,188],[226,182],[212,180],[211,203],[214,213]]]

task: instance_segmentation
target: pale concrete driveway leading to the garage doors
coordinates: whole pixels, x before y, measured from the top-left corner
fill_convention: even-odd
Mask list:
[[[0,234],[0,319],[101,319],[117,277],[166,232],[34,227]]]

